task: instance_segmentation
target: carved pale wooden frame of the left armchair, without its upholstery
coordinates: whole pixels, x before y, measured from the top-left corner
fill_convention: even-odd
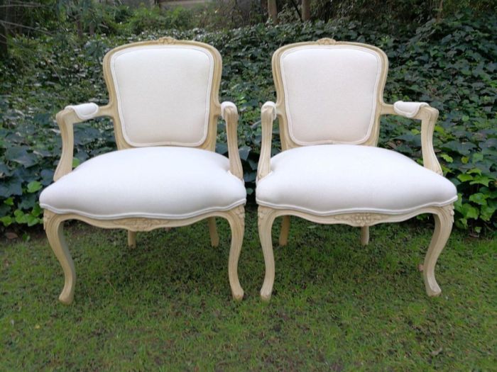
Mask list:
[[[107,89],[109,90],[109,103],[105,106],[100,106],[97,113],[92,115],[92,118],[101,116],[110,117],[114,122],[114,135],[116,138],[117,149],[122,150],[132,148],[133,146],[129,145],[129,143],[126,142],[126,140],[124,139],[121,129],[121,121],[119,118],[116,100],[116,90],[114,87],[110,69],[111,57],[112,55],[114,55],[114,53],[128,47],[173,44],[202,47],[212,54],[214,60],[214,72],[212,76],[212,90],[210,96],[207,137],[201,145],[197,146],[197,148],[210,151],[215,150],[217,137],[217,120],[219,118],[219,115],[222,115],[222,117],[226,121],[229,171],[234,176],[243,180],[243,171],[241,168],[241,161],[239,157],[236,137],[236,127],[238,125],[239,116],[234,104],[227,103],[222,106],[219,103],[219,84],[221,81],[222,59],[221,55],[219,55],[219,52],[211,45],[198,43],[196,41],[175,40],[173,38],[165,37],[158,40],[122,45],[121,47],[116,47],[115,49],[111,50],[104,57],[104,79],[107,83]],[[57,181],[58,179],[60,179],[60,177],[72,171],[72,156],[74,148],[74,132],[72,126],[84,121],[76,115],[75,111],[72,108],[65,108],[64,110],[60,111],[56,115],[56,119],[60,128],[60,135],[62,136],[62,154],[58,167],[55,170],[55,175],[53,177],[54,181]],[[63,235],[63,222],[65,220],[81,220],[83,222],[87,222],[89,225],[103,227],[106,229],[125,229],[128,231],[128,244],[130,247],[134,247],[136,246],[136,232],[138,231],[150,231],[161,227],[179,227],[191,225],[192,223],[207,218],[211,244],[213,247],[217,247],[217,245],[219,244],[219,236],[217,235],[216,229],[216,217],[226,218],[226,220],[228,220],[229,222],[229,226],[231,227],[231,247],[228,260],[228,276],[233,298],[236,300],[241,300],[241,298],[243,298],[244,296],[244,290],[240,286],[237,267],[238,259],[241,252],[241,244],[244,238],[245,212],[243,205],[239,205],[235,208],[232,208],[231,210],[205,213],[192,218],[185,218],[180,220],[157,218],[120,218],[116,220],[97,220],[74,213],[57,214],[45,209],[43,213],[43,225],[45,227],[45,232],[47,234],[48,241],[50,242],[50,246],[52,247],[55,256],[58,258],[65,275],[65,284],[64,288],[62,289],[62,293],[60,293],[59,300],[65,304],[72,303],[76,282],[75,266],[72,261],[69,249],[67,249],[67,244],[65,243],[65,238]]]

